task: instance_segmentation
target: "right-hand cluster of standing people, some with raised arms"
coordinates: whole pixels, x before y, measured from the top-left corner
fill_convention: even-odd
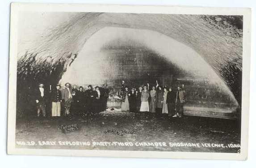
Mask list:
[[[133,87],[129,90],[122,81],[122,111],[130,112],[157,112],[168,114],[173,117],[183,115],[183,105],[185,104],[184,85],[178,86],[174,91],[172,88],[156,86],[150,88],[149,84],[140,86],[138,90]]]

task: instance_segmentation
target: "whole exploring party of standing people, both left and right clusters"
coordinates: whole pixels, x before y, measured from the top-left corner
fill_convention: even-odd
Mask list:
[[[82,86],[77,89],[76,85],[72,88],[70,83],[66,83],[61,89],[60,84],[57,84],[54,89],[50,89],[50,92],[46,92],[44,84],[39,84],[35,92],[37,116],[39,117],[42,112],[42,116],[46,117],[47,99],[51,100],[51,116],[61,116],[61,112],[64,116],[70,116],[71,111],[73,115],[80,115],[81,112],[102,112],[106,109],[108,94],[106,84],[95,88],[88,85],[85,91]],[[184,85],[174,91],[172,88],[162,88],[157,80],[156,86],[150,88],[147,84],[140,86],[138,90],[135,87],[129,90],[123,80],[121,99],[122,111],[157,112],[173,117],[183,115],[183,105],[186,101]]]

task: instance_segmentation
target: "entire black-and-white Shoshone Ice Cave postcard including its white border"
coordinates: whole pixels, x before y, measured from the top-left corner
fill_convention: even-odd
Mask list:
[[[245,160],[251,10],[13,3],[8,153]]]

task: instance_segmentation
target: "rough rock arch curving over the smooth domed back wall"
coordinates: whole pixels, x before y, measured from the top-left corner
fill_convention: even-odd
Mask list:
[[[112,26],[153,30],[193,48],[222,76],[241,104],[241,22],[241,16],[77,13],[71,21],[36,37],[25,53],[19,52],[17,98],[24,104],[26,88],[39,82],[47,87],[58,83],[86,40],[101,28]]]

